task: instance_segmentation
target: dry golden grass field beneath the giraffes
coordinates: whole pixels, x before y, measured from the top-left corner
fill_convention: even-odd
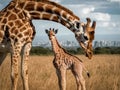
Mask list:
[[[120,55],[94,55],[92,60],[79,55],[90,71],[86,79],[87,90],[120,90]],[[52,65],[53,56],[30,56],[29,86],[30,90],[59,90],[57,76]],[[0,67],[0,90],[10,90],[10,57]],[[22,89],[21,77],[18,90]],[[67,72],[67,90],[76,90],[76,84],[70,71]]]

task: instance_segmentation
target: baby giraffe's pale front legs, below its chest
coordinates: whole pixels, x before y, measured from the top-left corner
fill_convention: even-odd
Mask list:
[[[66,90],[66,70],[65,69],[56,69],[58,76],[58,83],[60,90]]]

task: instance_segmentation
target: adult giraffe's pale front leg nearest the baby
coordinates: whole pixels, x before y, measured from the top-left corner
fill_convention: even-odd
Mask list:
[[[28,86],[28,56],[31,49],[31,43],[27,43],[21,53],[21,71],[22,71],[22,80],[24,90],[29,90]]]

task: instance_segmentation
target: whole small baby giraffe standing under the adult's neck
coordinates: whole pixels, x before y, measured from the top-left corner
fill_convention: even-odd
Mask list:
[[[77,83],[77,90],[86,90],[85,88],[85,79],[83,78],[82,71],[83,69],[87,71],[82,63],[82,61],[65,51],[60,44],[58,43],[55,34],[57,30],[50,29],[46,30],[48,37],[52,44],[52,49],[54,51],[54,60],[53,64],[56,68],[56,73],[58,76],[58,83],[60,90],[66,90],[66,70],[70,69],[75,76]],[[89,76],[89,73],[87,72]]]

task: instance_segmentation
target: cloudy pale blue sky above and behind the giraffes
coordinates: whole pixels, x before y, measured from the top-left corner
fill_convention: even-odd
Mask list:
[[[0,0],[0,10],[11,0]],[[97,23],[95,40],[120,40],[120,0],[51,0],[73,11],[82,22],[86,17]],[[74,34],[63,25],[45,20],[33,20],[35,29],[35,40],[48,40],[45,29],[59,29],[58,38],[75,40]],[[101,35],[104,35],[102,37]],[[108,39],[109,38],[109,39]]]

